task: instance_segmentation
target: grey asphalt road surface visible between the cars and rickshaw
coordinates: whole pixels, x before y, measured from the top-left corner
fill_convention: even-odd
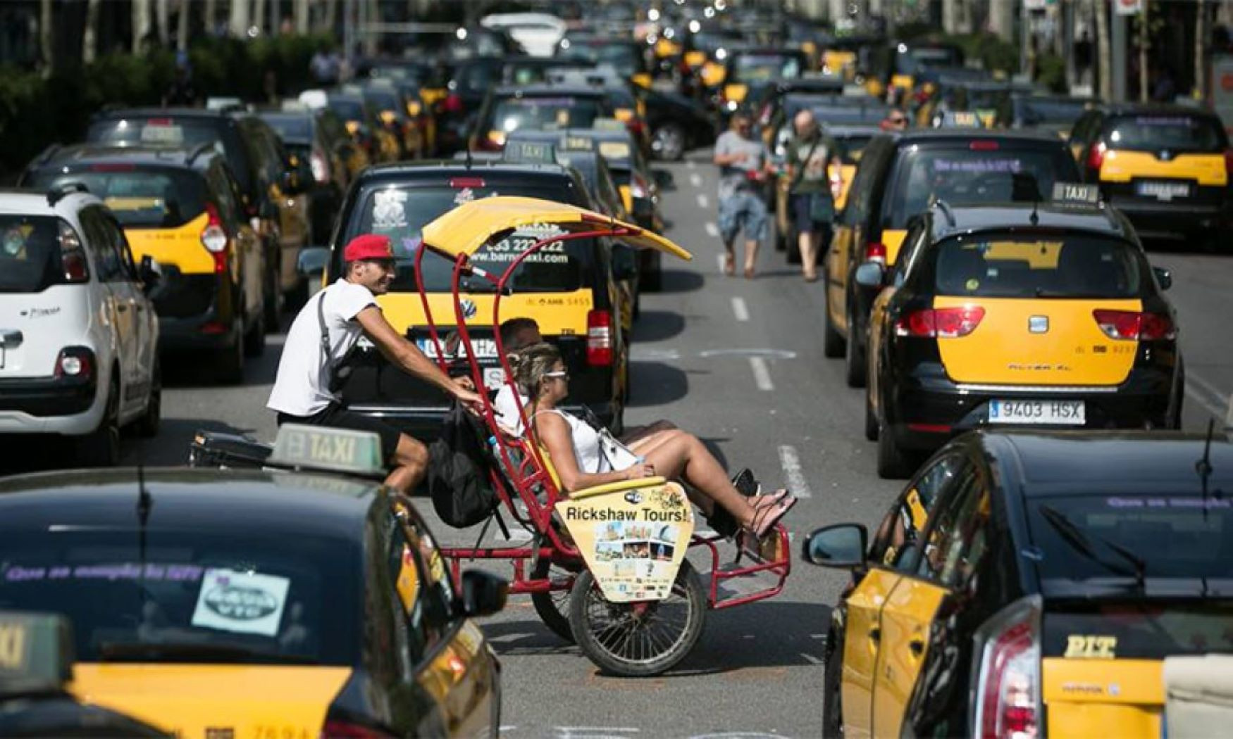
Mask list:
[[[695,153],[668,169],[676,188],[666,193],[667,235],[695,259],[666,262],[665,289],[642,298],[626,422],[671,419],[730,468],[747,466],[767,487],[792,488],[801,498],[787,519],[794,546],[824,523],[874,526],[901,485],[874,474],[874,445],[861,434],[861,392],[845,387],[841,362],[822,357],[822,283],[805,283],[769,248],[756,280],[724,277],[709,156]],[[1223,422],[1233,395],[1233,245],[1229,255],[1153,245],[1150,256],[1174,272],[1169,297],[1186,358],[1185,426],[1201,430],[1212,416]],[[169,366],[163,430],[150,441],[126,438],[125,462],[180,464],[196,429],[272,438],[274,415],[264,405],[280,350],[281,335],[271,335],[265,356],[234,388],[213,387],[203,374],[199,381],[195,365]],[[475,532],[434,530],[450,543],[475,539]],[[779,597],[708,613],[693,654],[649,680],[597,674],[540,624],[529,600],[512,599],[485,623],[504,665],[503,734],[816,737],[827,606],[842,579],[798,562]]]

